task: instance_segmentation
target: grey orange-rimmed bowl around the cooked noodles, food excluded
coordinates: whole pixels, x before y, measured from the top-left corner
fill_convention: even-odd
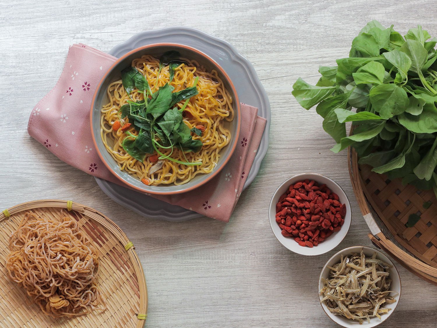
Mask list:
[[[108,104],[109,102],[108,94],[106,93],[106,89],[108,88],[108,85],[115,80],[121,79],[121,70],[125,69],[128,66],[131,66],[133,59],[139,58],[142,55],[146,55],[146,54],[150,54],[156,58],[160,58],[164,52],[170,50],[177,50],[180,53],[181,57],[197,61],[200,65],[205,66],[205,69],[208,71],[211,70],[218,71],[218,76],[223,80],[226,89],[229,91],[229,93],[232,96],[232,104],[235,111],[235,117],[232,122],[226,123],[228,124],[227,128],[231,131],[232,139],[230,140],[229,144],[221,150],[219,162],[217,163],[216,167],[211,173],[198,174],[184,185],[171,184],[171,185],[163,185],[163,186],[147,186],[144,185],[137,178],[128,174],[127,172],[121,171],[120,168],[118,167],[117,162],[114,161],[114,159],[111,157],[111,154],[109,154],[106,148],[104,147],[100,134],[101,108],[104,105]],[[192,188],[195,185],[199,187],[200,185],[205,183],[206,180],[210,178],[211,175],[218,173],[218,171],[220,171],[224,167],[225,159],[229,158],[232,155],[232,151],[234,149],[232,145],[234,144],[235,140],[238,140],[238,135],[239,135],[239,130],[238,130],[239,117],[237,115],[239,110],[238,97],[234,93],[233,89],[230,87],[229,81],[225,78],[225,76],[222,75],[220,70],[217,69],[217,65],[212,60],[208,60],[207,58],[205,58],[205,56],[200,55],[198,52],[195,52],[191,49],[187,49],[184,47],[179,47],[178,45],[150,46],[147,49],[139,49],[138,51],[135,51],[129,56],[123,58],[113,67],[111,71],[109,71],[105,75],[103,83],[97,89],[97,94],[94,99],[94,103],[92,104],[92,108],[93,108],[92,117],[91,117],[92,127],[93,127],[92,133],[94,135],[94,139],[96,140],[97,148],[100,150],[102,154],[103,160],[106,162],[106,164],[108,164],[109,167],[111,167],[113,173],[118,175],[118,177],[122,178],[130,185],[133,185],[144,192],[150,192],[155,194],[167,194],[167,193],[173,194],[173,193],[184,192],[185,190]]]

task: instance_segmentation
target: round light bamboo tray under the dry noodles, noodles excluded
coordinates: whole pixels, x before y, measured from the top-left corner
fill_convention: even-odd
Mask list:
[[[54,319],[45,315],[24,288],[11,281],[5,267],[9,236],[24,214],[77,220],[80,229],[99,250],[99,288],[108,308],[74,318]],[[103,214],[65,200],[37,200],[0,212],[0,327],[143,327],[147,317],[147,287],[141,263],[132,242]]]

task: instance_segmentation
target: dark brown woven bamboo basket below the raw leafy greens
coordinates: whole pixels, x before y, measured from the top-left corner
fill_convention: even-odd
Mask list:
[[[350,181],[361,213],[368,224],[369,238],[397,262],[422,279],[437,285],[437,200],[432,190],[422,191],[390,181],[384,174],[359,165],[354,149],[348,149]],[[431,201],[428,209],[423,203]],[[420,220],[406,227],[409,215]]]

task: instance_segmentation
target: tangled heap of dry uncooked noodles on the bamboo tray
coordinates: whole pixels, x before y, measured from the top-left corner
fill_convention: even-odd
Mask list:
[[[41,310],[73,317],[106,309],[97,288],[98,251],[80,232],[77,222],[25,214],[9,239],[6,268]]]

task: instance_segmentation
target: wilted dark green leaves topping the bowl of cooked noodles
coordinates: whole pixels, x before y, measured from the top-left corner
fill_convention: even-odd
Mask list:
[[[177,60],[179,53],[170,51],[163,54],[160,60],[158,76],[163,67],[169,66],[170,82],[173,80],[174,71],[183,62]],[[178,161],[171,157],[174,148],[183,152],[199,152],[202,147],[201,140],[193,140],[191,133],[200,136],[201,130],[190,129],[184,122],[182,112],[188,104],[189,98],[198,94],[196,84],[198,77],[194,80],[192,87],[173,92],[174,87],[169,83],[159,87],[152,92],[146,77],[135,67],[128,67],[121,71],[121,81],[126,92],[131,97],[133,90],[144,94],[141,101],[128,100],[127,104],[121,106],[119,115],[121,118],[128,118],[138,135],[130,132],[123,140],[122,146],[126,152],[136,160],[143,162],[146,154],[153,154],[156,151],[161,156],[160,160],[168,159],[173,162],[185,165],[199,165],[200,162]],[[150,96],[150,98],[149,98]],[[180,101],[185,100],[181,108],[176,106]],[[170,154],[163,154],[161,149],[171,149]]]

